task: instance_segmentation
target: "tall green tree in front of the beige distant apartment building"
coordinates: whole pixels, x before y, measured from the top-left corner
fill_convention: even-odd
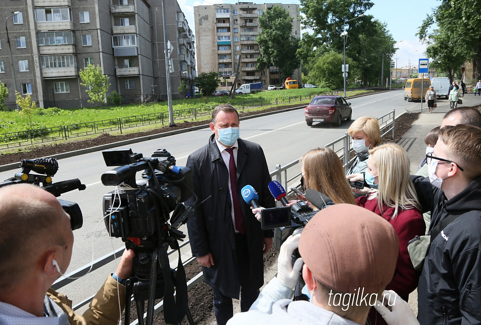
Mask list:
[[[257,34],[260,54],[257,57],[257,70],[274,65],[279,68],[280,79],[292,75],[301,61],[297,57],[299,39],[292,35],[293,18],[287,10],[273,6],[259,16],[261,32]]]

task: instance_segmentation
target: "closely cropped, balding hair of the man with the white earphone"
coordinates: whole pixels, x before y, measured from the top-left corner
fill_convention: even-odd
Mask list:
[[[30,194],[32,188],[41,190],[30,184],[0,188],[0,288],[20,281],[43,248],[66,244],[58,231],[61,219],[51,205],[39,197],[11,193],[15,189]]]

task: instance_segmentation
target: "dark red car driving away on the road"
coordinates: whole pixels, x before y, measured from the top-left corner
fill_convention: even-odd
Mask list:
[[[334,123],[341,126],[345,118],[351,120],[351,103],[342,96],[317,96],[304,109],[306,124],[310,127],[313,122]]]

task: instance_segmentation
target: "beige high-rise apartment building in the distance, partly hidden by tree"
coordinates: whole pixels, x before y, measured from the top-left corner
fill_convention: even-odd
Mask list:
[[[218,71],[225,77],[222,85],[232,86],[240,58],[237,85],[262,82],[263,85],[280,85],[279,69],[271,66],[264,71],[256,70],[259,46],[256,42],[260,32],[259,17],[273,6],[281,6],[294,19],[292,33],[301,37],[298,20],[299,5],[263,4],[239,2],[235,5],[219,4],[194,7],[197,37],[197,62],[199,72]],[[301,69],[296,69],[293,79],[301,80]],[[267,86],[266,86],[267,87]]]

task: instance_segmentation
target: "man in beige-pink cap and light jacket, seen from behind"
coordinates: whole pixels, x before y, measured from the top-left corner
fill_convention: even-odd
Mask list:
[[[292,266],[298,245],[302,259]],[[378,215],[348,204],[323,209],[300,236],[284,242],[277,275],[249,311],[236,314],[228,324],[365,324],[371,306],[380,302],[376,308],[389,324],[416,323],[409,306],[394,292],[384,291],[398,251],[394,229]],[[311,302],[290,300],[302,262]],[[394,304],[402,305],[402,312]]]

